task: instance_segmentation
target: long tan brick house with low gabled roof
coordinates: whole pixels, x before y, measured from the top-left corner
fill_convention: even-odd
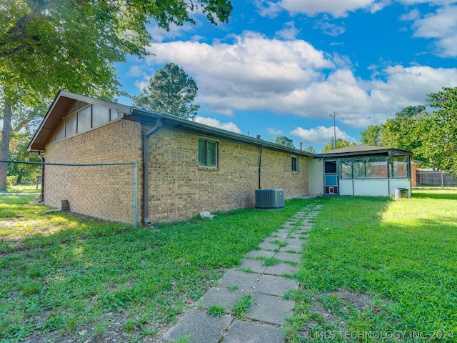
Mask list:
[[[60,91],[29,151],[43,159],[41,201],[119,222],[172,222],[254,207],[256,189],[309,194],[314,154],[176,116]],[[52,164],[138,163],[131,166]],[[48,165],[51,164],[51,165]],[[132,199],[138,207],[132,208]]]

